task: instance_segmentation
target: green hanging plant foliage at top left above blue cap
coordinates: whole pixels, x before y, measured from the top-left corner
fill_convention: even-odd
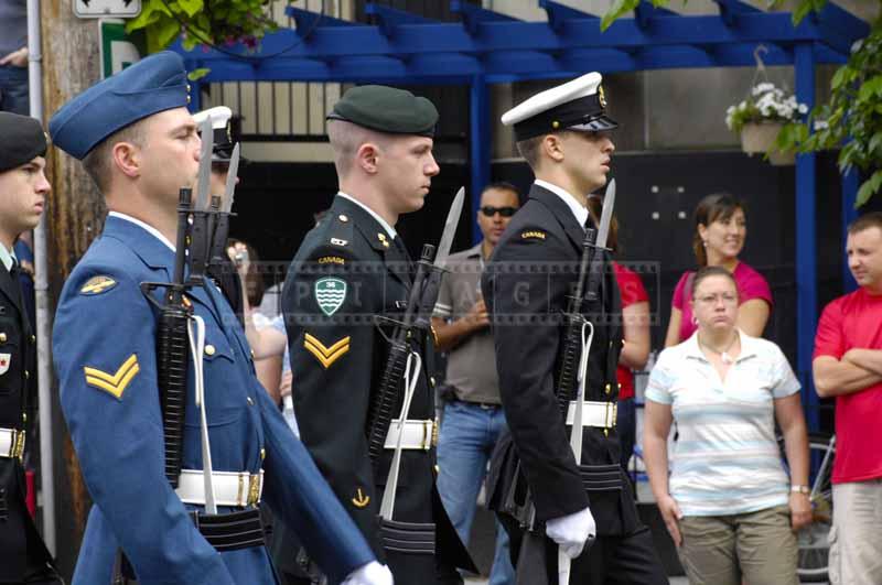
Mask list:
[[[179,36],[187,50],[237,42],[254,48],[277,28],[267,10],[268,0],[144,0],[141,14],[126,30],[143,29],[149,53],[162,51]]]

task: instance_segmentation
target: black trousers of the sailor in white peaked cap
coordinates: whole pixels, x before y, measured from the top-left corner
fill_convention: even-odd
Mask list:
[[[510,540],[518,585],[557,585],[558,546],[550,539],[525,533],[507,514],[498,514]],[[572,563],[571,585],[668,585],[649,529],[641,526],[623,537],[600,537]]]

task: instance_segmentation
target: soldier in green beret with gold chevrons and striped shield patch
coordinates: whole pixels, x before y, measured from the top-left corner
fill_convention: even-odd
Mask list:
[[[376,474],[366,438],[389,354],[377,317],[400,319],[412,279],[395,224],[422,207],[439,172],[432,156],[438,111],[409,91],[362,86],[346,91],[327,118],[340,192],[303,240],[282,294],[301,437],[396,583],[461,583],[452,565],[472,563],[434,487],[433,383],[424,359],[406,418],[392,519],[434,523],[434,555],[410,554],[381,538],[378,512],[398,424]],[[416,337],[411,349],[424,357],[431,342]],[[401,403],[399,397],[395,419]]]

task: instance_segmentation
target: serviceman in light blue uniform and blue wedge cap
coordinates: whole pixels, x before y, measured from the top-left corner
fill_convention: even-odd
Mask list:
[[[207,280],[183,301],[195,315],[183,469],[176,489],[165,477],[158,308],[148,299],[162,303],[164,291],[141,284],[173,275],[179,189],[193,185],[200,163],[187,90],[181,57],[158,53],[75,97],[50,122],[55,145],[83,161],[109,208],[65,283],[53,331],[62,408],[95,502],[74,583],[121,575],[143,584],[275,584],[257,514],[265,500],[304,534],[332,583],[388,585],[388,570],[258,383],[241,327]],[[211,499],[217,513],[207,510]]]

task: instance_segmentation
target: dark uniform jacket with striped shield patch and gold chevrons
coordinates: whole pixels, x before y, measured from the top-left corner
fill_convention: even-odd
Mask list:
[[[337,196],[306,235],[282,294],[301,437],[379,559],[388,556],[379,539],[378,513],[392,451],[385,449],[375,475],[365,423],[388,355],[376,318],[400,318],[410,284],[407,252],[397,249],[367,210]],[[431,344],[413,339],[412,347],[423,359],[407,418],[432,420],[433,389],[426,369]],[[399,396],[394,419],[400,411]],[[433,446],[402,452],[392,519],[434,522],[438,554],[467,567],[471,562],[459,556],[464,550],[434,488],[434,462]],[[396,582],[401,581],[395,562],[390,567]],[[431,575],[418,577],[428,582]],[[402,583],[417,583],[407,581],[415,576],[404,578]]]

